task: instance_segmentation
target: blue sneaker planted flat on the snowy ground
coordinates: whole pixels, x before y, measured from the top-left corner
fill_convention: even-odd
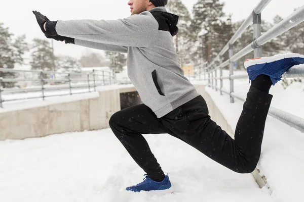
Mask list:
[[[161,182],[151,180],[147,174],[143,176],[145,177],[143,182],[140,182],[135,186],[127,187],[126,190],[134,192],[149,191],[158,193],[173,193],[174,190],[169,180],[169,175],[166,175],[165,179]]]

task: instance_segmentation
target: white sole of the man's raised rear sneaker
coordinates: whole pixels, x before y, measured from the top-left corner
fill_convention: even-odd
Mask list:
[[[247,69],[250,66],[263,64],[263,63],[271,63],[278,60],[282,60],[285,58],[304,58],[303,55],[300,54],[293,54],[293,53],[287,53],[287,54],[278,54],[272,57],[263,57],[263,58],[254,58],[249,59],[244,62],[244,66]]]

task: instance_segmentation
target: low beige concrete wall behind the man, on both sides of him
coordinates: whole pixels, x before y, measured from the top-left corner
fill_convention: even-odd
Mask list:
[[[206,99],[211,118],[233,135],[204,85],[195,86]],[[134,87],[100,91],[99,97],[0,113],[0,140],[42,137],[51,134],[108,128],[111,115],[121,110],[120,93]]]

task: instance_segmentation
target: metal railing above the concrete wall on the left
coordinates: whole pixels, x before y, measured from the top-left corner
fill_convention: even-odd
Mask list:
[[[91,72],[54,72],[39,70],[15,70],[0,68],[2,74],[13,78],[0,77],[0,107],[4,102],[96,91],[97,86],[116,83],[114,72],[93,70]],[[29,74],[29,75],[26,75]],[[17,78],[15,78],[17,76]],[[9,83],[31,82],[29,87],[5,87]],[[61,92],[61,93],[59,93]],[[24,94],[25,93],[25,94]],[[30,93],[32,96],[30,96]],[[25,96],[24,96],[25,95]]]

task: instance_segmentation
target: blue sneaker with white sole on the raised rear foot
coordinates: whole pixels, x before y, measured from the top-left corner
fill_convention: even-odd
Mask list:
[[[270,76],[273,85],[275,85],[289,68],[300,64],[304,64],[303,55],[288,53],[273,57],[249,59],[245,61],[244,66],[251,81],[258,75],[265,74]]]

